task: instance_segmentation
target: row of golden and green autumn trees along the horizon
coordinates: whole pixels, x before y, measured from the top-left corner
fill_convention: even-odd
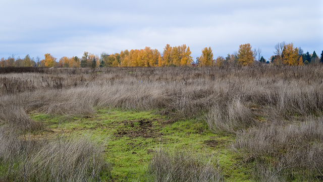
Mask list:
[[[265,60],[261,55],[261,49],[252,49],[249,43],[239,46],[238,52],[228,54],[226,57],[218,56],[213,58],[211,47],[202,49],[196,62],[193,62],[189,46],[172,47],[167,44],[162,53],[157,49],[145,47],[144,49],[122,50],[120,53],[97,54],[84,52],[82,57],[62,57],[59,60],[50,53],[46,53],[43,59],[39,57],[30,58],[26,55],[23,59],[15,59],[14,56],[4,57],[0,61],[0,67],[57,67],[57,68],[96,68],[96,67],[168,67],[168,66],[251,66],[254,64],[273,64],[302,66],[313,63],[323,63],[323,50],[320,58],[314,51],[310,54],[299,47],[294,47],[293,43],[280,42],[275,45],[275,51],[269,60]]]

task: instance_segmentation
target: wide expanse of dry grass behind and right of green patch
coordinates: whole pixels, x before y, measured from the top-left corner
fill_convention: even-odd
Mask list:
[[[312,179],[323,171],[322,90],[320,66],[47,69],[0,74],[0,122],[37,130],[41,125],[29,119],[31,111],[155,109],[173,118],[205,119],[213,132],[236,134],[235,148],[255,159],[261,180],[287,180],[292,170],[306,170]]]

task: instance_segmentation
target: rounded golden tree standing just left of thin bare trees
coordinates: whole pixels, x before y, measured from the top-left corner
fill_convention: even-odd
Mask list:
[[[253,65],[253,51],[249,43],[239,46],[238,62],[241,66]]]

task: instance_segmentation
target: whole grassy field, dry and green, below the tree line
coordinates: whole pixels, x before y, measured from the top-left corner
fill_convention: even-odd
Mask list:
[[[7,69],[0,181],[322,181],[323,67]]]

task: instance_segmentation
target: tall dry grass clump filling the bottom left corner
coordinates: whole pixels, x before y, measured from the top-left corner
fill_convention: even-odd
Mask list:
[[[0,129],[1,180],[100,181],[110,177],[102,148],[86,138],[39,140]]]

